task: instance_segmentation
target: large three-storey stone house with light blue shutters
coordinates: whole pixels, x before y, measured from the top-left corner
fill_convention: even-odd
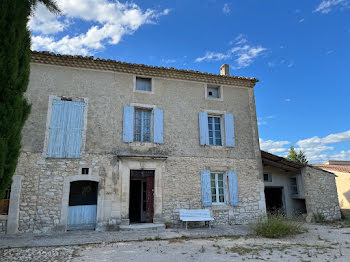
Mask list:
[[[216,75],[33,52],[32,112],[0,231],[179,224],[181,208],[208,208],[215,224],[265,216],[262,164],[280,173],[290,164],[262,162],[257,81],[230,76],[228,65]],[[301,169],[308,212],[338,218],[337,200],[315,200],[333,187],[309,182],[334,176]]]

